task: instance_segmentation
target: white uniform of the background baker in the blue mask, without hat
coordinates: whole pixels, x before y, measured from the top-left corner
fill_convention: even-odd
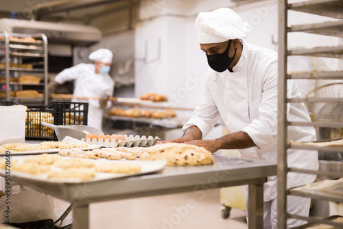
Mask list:
[[[108,74],[95,73],[94,64],[78,64],[64,69],[55,77],[58,84],[75,80],[74,96],[102,97],[113,96],[115,82]],[[71,99],[75,102],[88,102],[88,125],[102,130],[103,110],[100,109],[98,99]]]

